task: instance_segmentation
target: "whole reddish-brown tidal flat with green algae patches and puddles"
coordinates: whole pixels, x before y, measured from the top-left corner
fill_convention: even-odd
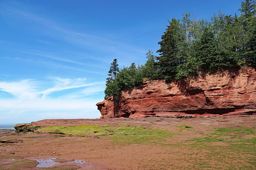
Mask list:
[[[255,115],[47,119],[18,129],[0,130],[0,170],[256,169]]]

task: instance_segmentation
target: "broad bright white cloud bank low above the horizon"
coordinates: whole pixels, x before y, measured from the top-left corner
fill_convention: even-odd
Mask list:
[[[50,78],[48,82],[21,80],[0,82],[0,91],[9,92],[12,99],[0,99],[0,122],[12,120],[40,120],[50,118],[99,118],[96,103],[102,99],[89,95],[103,91],[105,82],[87,83],[86,78]],[[46,88],[42,90],[46,86]],[[52,86],[52,87],[51,87]],[[67,89],[61,97],[50,98],[49,94]],[[85,98],[87,96],[87,98]],[[87,115],[87,117],[86,117]],[[82,116],[82,117],[81,117]],[[16,122],[17,122],[16,121]],[[35,121],[35,120],[34,120]],[[10,121],[8,121],[10,122]]]

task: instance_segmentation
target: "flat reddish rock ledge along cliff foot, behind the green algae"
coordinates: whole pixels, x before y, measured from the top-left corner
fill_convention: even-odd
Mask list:
[[[178,123],[178,122],[203,122],[204,120],[240,120],[249,118],[253,120],[256,115],[230,115],[230,116],[194,116],[194,115],[154,115],[154,116],[141,116],[137,118],[108,118],[108,119],[44,119],[37,122],[16,124],[14,128],[17,132],[36,132],[39,128],[45,128],[49,126],[82,126],[82,125],[101,125],[107,126],[112,125],[122,125],[128,124],[129,126],[145,126],[150,127],[154,124],[159,126],[164,126],[167,122]],[[8,130],[7,130],[8,131]],[[11,132],[8,131],[8,132]],[[15,132],[15,131],[14,131]],[[14,133],[13,132],[13,133]]]

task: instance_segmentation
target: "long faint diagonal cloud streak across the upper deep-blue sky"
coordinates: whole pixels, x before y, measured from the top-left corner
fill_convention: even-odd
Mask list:
[[[2,14],[8,16],[12,15],[14,18],[22,18],[29,22],[34,22],[44,26],[51,30],[44,33],[47,33],[52,38],[64,40],[79,47],[87,47],[94,50],[110,52],[114,55],[130,57],[132,57],[134,54],[144,55],[145,53],[145,49],[140,49],[119,41],[113,41],[109,38],[103,37],[100,34],[94,35],[91,33],[86,33],[86,30],[83,32],[73,31],[68,29],[66,26],[63,26],[62,24],[53,21],[52,19],[40,17],[36,13],[24,10],[26,8],[23,8],[22,4],[2,5],[2,7],[4,8]],[[41,31],[43,32],[43,29],[41,29]]]

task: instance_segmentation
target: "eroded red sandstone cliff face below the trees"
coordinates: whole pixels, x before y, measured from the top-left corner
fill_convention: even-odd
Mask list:
[[[256,114],[256,71],[233,68],[170,84],[147,81],[96,104],[101,118]]]

